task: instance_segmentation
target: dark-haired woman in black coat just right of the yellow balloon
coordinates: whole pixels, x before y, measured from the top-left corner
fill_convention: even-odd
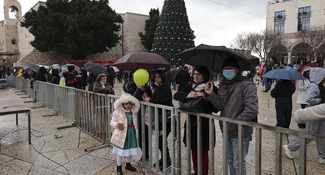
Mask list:
[[[155,103],[155,104],[173,106],[171,89],[169,87],[169,83],[166,78],[165,72],[158,69],[153,73],[153,78],[154,78],[154,83],[152,83],[152,87],[153,87],[152,97],[144,98],[144,101]],[[170,110],[166,110],[166,113],[168,113],[168,112],[170,113]],[[162,109],[161,108],[158,109],[158,116],[155,116],[155,117],[159,117],[159,115],[162,117]],[[159,133],[161,133],[160,131],[162,130],[162,122],[159,119],[158,119],[158,121],[159,121],[158,122],[158,130],[159,130]],[[171,120],[168,118],[166,121],[166,133],[167,133],[166,137],[168,137],[170,131],[171,131]],[[159,150],[161,152],[161,155],[163,155],[162,135],[161,134],[159,134]],[[167,146],[167,151],[166,151],[166,158],[167,158],[166,167],[168,167],[171,165],[168,146]],[[155,164],[153,164],[153,166],[155,166]],[[160,170],[163,170],[162,169],[162,156],[159,159],[159,166],[160,166]]]

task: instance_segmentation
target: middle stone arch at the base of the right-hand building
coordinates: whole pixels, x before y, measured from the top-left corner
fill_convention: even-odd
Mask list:
[[[312,48],[309,46],[309,44],[306,43],[298,43],[293,46],[291,50],[291,61],[292,63],[306,63],[309,58],[308,58],[308,53],[312,52]]]

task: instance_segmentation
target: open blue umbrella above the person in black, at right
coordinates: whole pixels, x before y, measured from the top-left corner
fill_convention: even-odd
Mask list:
[[[295,70],[289,69],[274,69],[266,72],[262,75],[265,78],[272,78],[272,79],[305,79],[305,77]]]

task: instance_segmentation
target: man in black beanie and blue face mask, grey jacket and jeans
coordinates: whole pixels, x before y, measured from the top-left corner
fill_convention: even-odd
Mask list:
[[[236,58],[228,56],[222,63],[224,76],[219,85],[218,93],[213,92],[211,82],[205,85],[207,96],[216,110],[221,111],[220,116],[242,119],[245,121],[257,121],[258,95],[254,83],[239,71]],[[223,130],[223,123],[219,121],[222,133],[228,133],[228,165],[230,174],[238,174],[238,125],[227,122],[228,130]],[[245,157],[248,152],[249,141],[252,139],[253,128],[243,126],[243,171],[246,174]]]

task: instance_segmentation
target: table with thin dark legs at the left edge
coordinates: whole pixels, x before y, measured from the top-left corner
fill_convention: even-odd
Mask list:
[[[28,113],[28,143],[30,144],[30,108],[18,99],[1,99],[0,115],[16,114],[16,125],[18,125],[18,113]]]

